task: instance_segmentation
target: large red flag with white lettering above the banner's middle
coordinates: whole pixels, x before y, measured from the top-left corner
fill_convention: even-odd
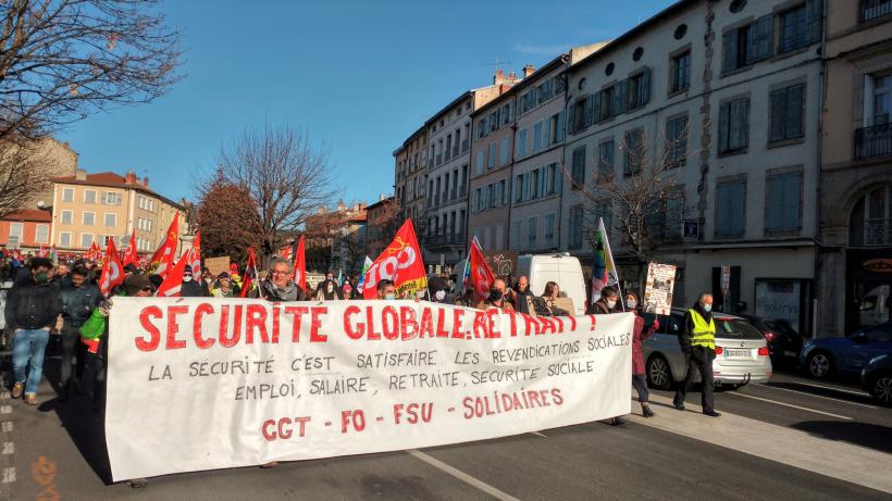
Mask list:
[[[369,266],[362,286],[362,297],[374,299],[377,283],[383,279],[393,280],[399,295],[428,287],[428,275],[421,261],[421,248],[418,247],[412,220],[406,220],[396,233],[394,241]]]

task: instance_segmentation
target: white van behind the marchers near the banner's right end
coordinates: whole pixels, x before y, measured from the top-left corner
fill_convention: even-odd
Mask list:
[[[545,284],[557,283],[561,296],[567,295],[573,301],[573,314],[585,314],[585,278],[579,259],[569,252],[560,254],[526,254],[518,258],[517,275],[526,275],[530,291],[542,296]]]

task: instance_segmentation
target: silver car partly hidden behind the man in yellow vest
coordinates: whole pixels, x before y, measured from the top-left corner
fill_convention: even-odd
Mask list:
[[[642,343],[647,383],[653,388],[669,389],[673,383],[683,381],[687,374],[687,361],[678,337],[684,326],[685,312],[673,308],[670,315],[658,316],[659,330]],[[645,325],[649,325],[654,316],[645,313]],[[716,322],[716,360],[713,362],[716,385],[736,388],[749,381],[767,381],[773,368],[768,342],[761,333],[740,316],[717,312],[713,318]]]

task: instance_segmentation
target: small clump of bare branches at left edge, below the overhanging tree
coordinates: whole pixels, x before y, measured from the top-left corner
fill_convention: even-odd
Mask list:
[[[53,159],[39,141],[0,140],[0,217],[52,187]]]

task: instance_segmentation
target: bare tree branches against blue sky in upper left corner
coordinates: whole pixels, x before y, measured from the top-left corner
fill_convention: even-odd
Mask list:
[[[0,2],[0,140],[36,138],[163,95],[179,34],[154,0]]]

